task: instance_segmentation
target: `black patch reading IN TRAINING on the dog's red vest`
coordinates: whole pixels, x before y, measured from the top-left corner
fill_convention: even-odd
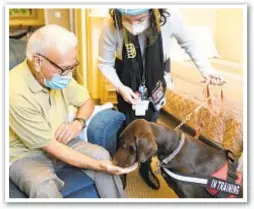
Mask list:
[[[238,195],[240,193],[241,185],[229,183],[227,181],[217,179],[217,178],[209,178],[206,188],[215,189],[221,192],[226,192],[232,195]]]

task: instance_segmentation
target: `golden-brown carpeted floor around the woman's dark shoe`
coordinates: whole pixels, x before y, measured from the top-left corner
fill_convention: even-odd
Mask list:
[[[158,123],[163,124],[169,128],[174,128],[177,125],[173,121],[170,121],[167,115],[162,113],[159,117]],[[157,158],[153,158],[152,160],[153,171],[156,170],[156,162],[157,162]],[[172,189],[168,187],[168,185],[166,184],[162,176],[160,174],[156,174],[156,176],[160,180],[161,187],[159,190],[153,190],[143,181],[143,179],[139,175],[138,168],[134,172],[128,174],[127,185],[125,189],[127,197],[128,198],[177,198],[177,195],[174,193]]]

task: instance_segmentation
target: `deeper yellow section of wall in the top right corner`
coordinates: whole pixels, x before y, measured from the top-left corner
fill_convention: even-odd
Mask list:
[[[216,47],[222,58],[243,61],[243,10],[218,9],[216,15]]]

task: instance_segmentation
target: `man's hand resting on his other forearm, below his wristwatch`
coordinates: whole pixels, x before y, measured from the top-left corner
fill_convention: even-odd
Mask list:
[[[67,144],[73,138],[77,137],[82,129],[82,124],[75,120],[70,124],[62,124],[55,133],[58,142]]]

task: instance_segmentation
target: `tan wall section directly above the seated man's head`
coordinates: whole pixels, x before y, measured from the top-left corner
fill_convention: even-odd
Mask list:
[[[57,24],[70,29],[69,20],[69,9],[46,9],[46,24]]]

